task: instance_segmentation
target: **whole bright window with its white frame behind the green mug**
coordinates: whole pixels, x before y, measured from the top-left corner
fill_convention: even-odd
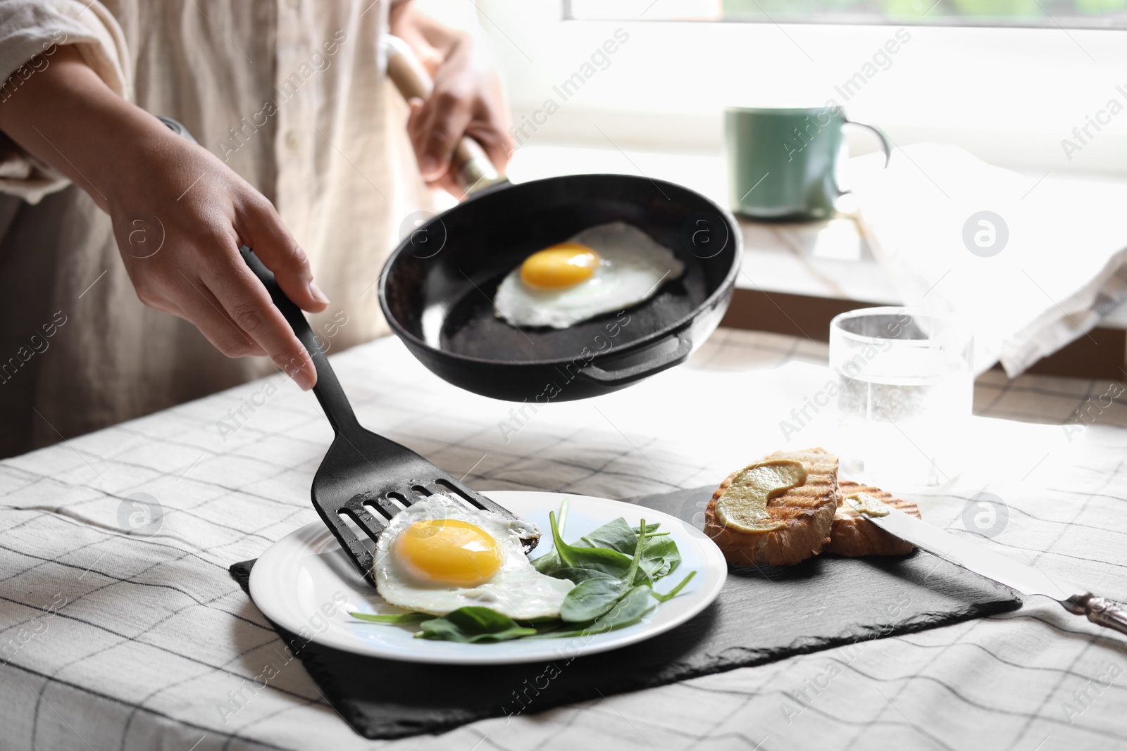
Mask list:
[[[902,146],[950,143],[1035,177],[1127,171],[1127,114],[1085,138],[1082,152],[1065,149],[1076,140],[1073,128],[1101,110],[1127,113],[1127,35],[1070,28],[1063,10],[1088,14],[1089,21],[1127,19],[1117,10],[1125,0],[474,1],[503,60],[514,123],[527,117],[536,126],[527,127],[526,143],[598,146],[616,159],[616,149],[719,154],[726,106],[834,99]],[[921,23],[886,16],[879,24],[859,17],[829,24],[813,11],[802,23],[742,23],[722,15],[756,3],[773,17],[779,8],[846,12],[917,1],[935,5],[925,16],[928,8],[920,11]],[[987,3],[1008,9],[1009,26],[932,20],[941,10],[950,18],[952,9]],[[1017,10],[1026,3],[1051,14],[1038,23],[1061,26],[1028,19],[1019,26]],[[906,36],[911,41],[885,59],[889,39]],[[603,55],[597,51],[607,39],[616,52]],[[565,98],[557,88],[576,72],[585,79],[582,90]],[[846,90],[859,72],[864,86]],[[871,147],[868,138],[855,145]]]

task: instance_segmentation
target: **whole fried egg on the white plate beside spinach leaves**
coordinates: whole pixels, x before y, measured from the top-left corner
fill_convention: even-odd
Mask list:
[[[471,605],[521,620],[558,616],[575,584],[532,567],[527,534],[526,521],[446,495],[419,499],[376,540],[375,588],[391,605],[437,616]]]

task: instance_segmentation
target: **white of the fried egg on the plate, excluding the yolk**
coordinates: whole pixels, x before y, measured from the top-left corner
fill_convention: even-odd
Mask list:
[[[396,537],[416,521],[459,519],[489,534],[502,552],[503,563],[492,578],[478,587],[458,587],[419,581],[396,557]],[[521,548],[527,522],[506,519],[490,511],[472,510],[446,495],[419,499],[397,513],[375,544],[375,588],[391,605],[443,616],[465,606],[491,608],[509,618],[554,617],[564,597],[575,587],[532,567]]]

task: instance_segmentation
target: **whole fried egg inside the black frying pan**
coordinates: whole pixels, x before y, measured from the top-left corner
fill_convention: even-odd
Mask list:
[[[566,329],[649,299],[684,270],[638,227],[611,222],[529,256],[498,285],[494,305],[513,325]]]

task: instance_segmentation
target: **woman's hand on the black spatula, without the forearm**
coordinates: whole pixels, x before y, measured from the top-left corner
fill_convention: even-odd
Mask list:
[[[239,248],[254,248],[293,302],[319,312],[329,301],[304,252],[260,193],[206,149],[157,126],[121,152],[121,176],[106,190],[137,297],[192,321],[228,357],[267,355],[309,388],[312,361]]]

